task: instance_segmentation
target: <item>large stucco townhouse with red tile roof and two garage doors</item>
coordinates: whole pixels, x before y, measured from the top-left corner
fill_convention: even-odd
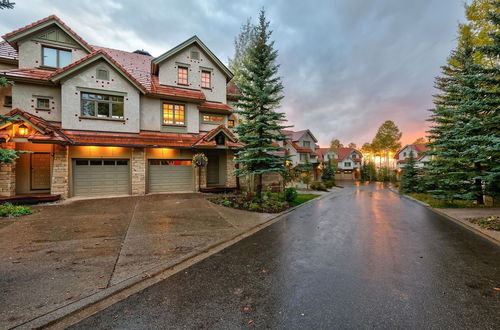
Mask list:
[[[3,36],[0,194],[141,195],[235,186],[233,77],[196,36],[158,57],[88,44],[56,16]]]

